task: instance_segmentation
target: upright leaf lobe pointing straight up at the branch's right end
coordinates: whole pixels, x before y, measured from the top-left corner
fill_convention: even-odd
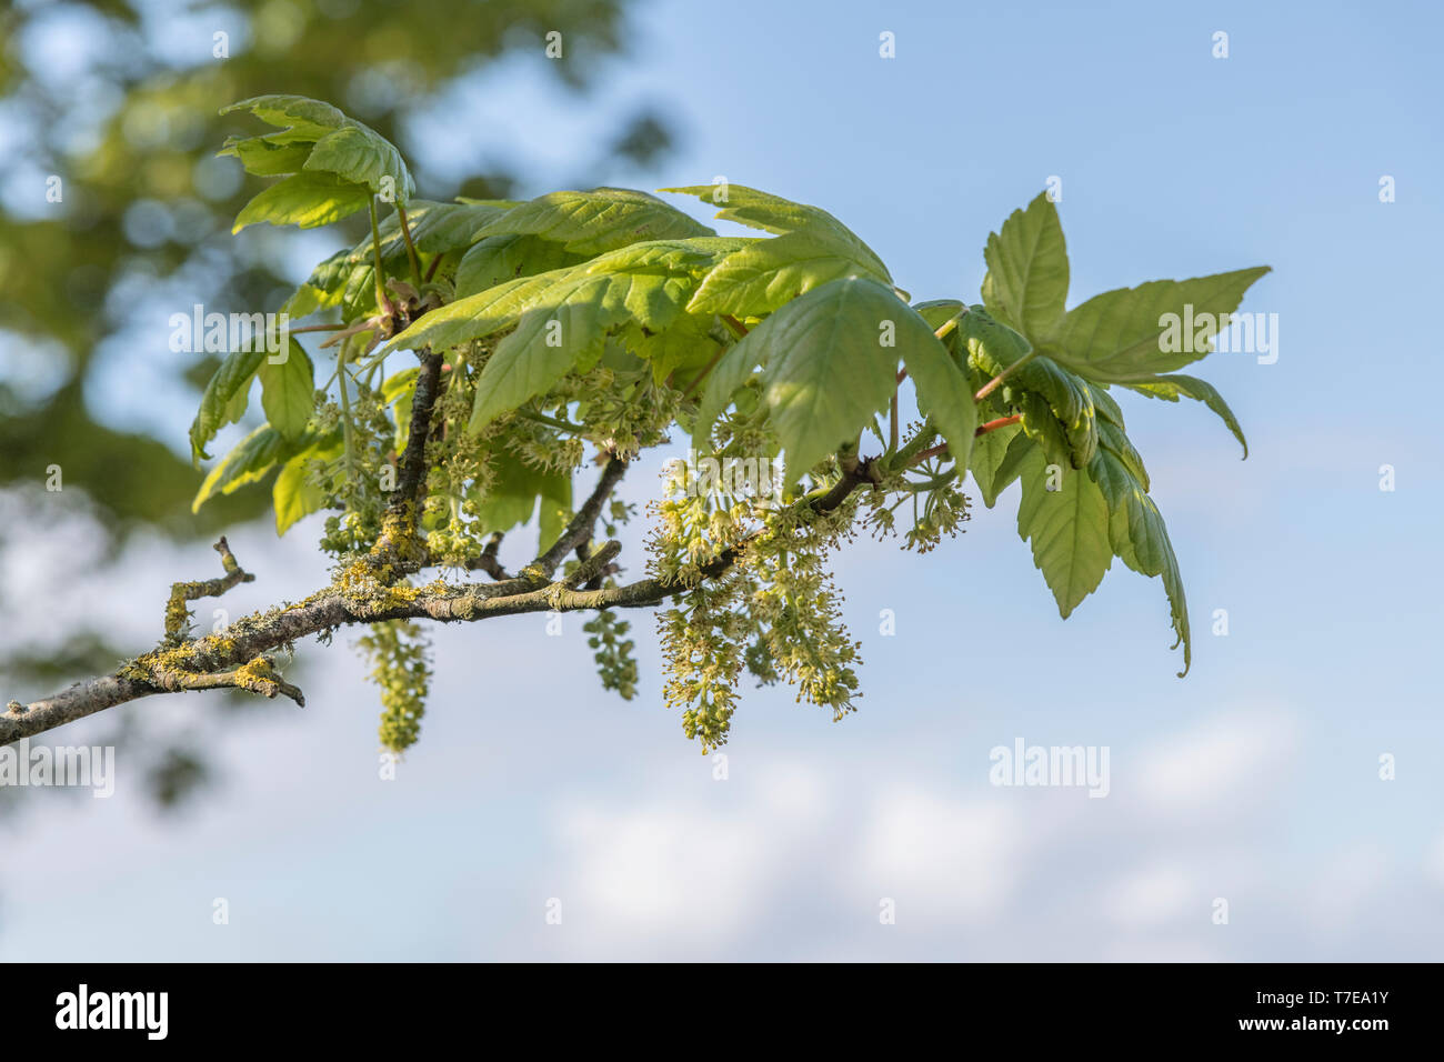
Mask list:
[[[983,303],[1032,342],[1047,340],[1069,296],[1069,251],[1047,192],[988,234]]]

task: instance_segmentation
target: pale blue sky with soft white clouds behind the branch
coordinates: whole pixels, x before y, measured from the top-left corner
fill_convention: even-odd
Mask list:
[[[1115,569],[1058,620],[1015,490],[924,558],[871,542],[839,558],[859,714],[833,725],[749,691],[725,782],[661,707],[645,616],[630,704],[589,676],[579,620],[559,639],[540,617],[439,633],[426,731],[393,783],[338,639],[305,652],[305,714],[206,730],[201,698],[124,709],[218,740],[224,789],[159,822],[124,774],[111,800],[29,800],[0,857],[0,955],[1438,958],[1441,29],[1425,4],[654,3],[589,97],[540,58],[459,87],[462,120],[417,137],[435,172],[501,155],[523,191],[550,191],[588,176],[598,116],[658,98],[680,149],[593,182],[722,175],[822,205],[920,299],[976,299],[988,231],[1054,175],[1069,305],[1272,266],[1243,309],[1278,314],[1278,361],[1199,367],[1246,462],[1207,410],[1125,402],[1188,588],[1191,675],[1174,678],[1157,581]],[[155,416],[179,441],[191,410]],[[312,527],[267,535],[231,536],[261,577],[237,607],[322,578]],[[142,542],[124,575],[66,592],[144,644],[156,620],[134,603],[206,553]],[[23,555],[25,571],[6,558],[13,600],[64,565]],[[989,786],[989,750],[1017,737],[1109,746],[1110,796]]]

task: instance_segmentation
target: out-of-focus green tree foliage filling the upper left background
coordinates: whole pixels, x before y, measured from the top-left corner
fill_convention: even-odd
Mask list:
[[[215,29],[228,33],[228,58],[212,55]],[[97,423],[94,387],[85,387],[97,347],[123,325],[116,293],[126,280],[163,285],[191,269],[195,301],[208,306],[279,305],[280,263],[256,260],[254,249],[243,257],[230,236],[256,189],[234,160],[212,157],[237,126],[217,111],[297,92],[336,100],[406,146],[406,114],[488,62],[540,56],[552,30],[563,33],[565,59],[546,69],[585,88],[621,51],[622,0],[22,0],[0,13],[0,124],[22,137],[19,152],[0,160],[0,178],[10,178],[0,198],[0,360],[12,363],[0,371],[0,485],[42,483],[58,464],[65,485],[88,491],[118,535],[137,524],[209,535],[258,514],[264,491],[192,516],[201,474],[178,455],[182,439],[163,445]],[[56,48],[78,74],[49,68]],[[667,147],[667,129],[650,111],[617,124],[617,156],[645,162]],[[485,129],[458,136],[478,150],[497,146]],[[433,188],[426,153],[410,153],[420,194],[433,198],[505,195],[517,176],[491,172]],[[52,173],[64,181],[59,204],[45,199]],[[338,246],[354,243],[364,224],[362,214],[342,225]],[[19,386],[16,367],[33,376],[38,360],[46,383]],[[214,366],[198,357],[188,381],[204,383]]]

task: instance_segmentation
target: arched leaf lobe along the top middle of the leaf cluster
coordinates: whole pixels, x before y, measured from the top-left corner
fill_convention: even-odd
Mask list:
[[[716,236],[657,197],[627,188],[537,197],[482,230],[482,236],[505,234],[540,236],[586,256],[632,243]]]

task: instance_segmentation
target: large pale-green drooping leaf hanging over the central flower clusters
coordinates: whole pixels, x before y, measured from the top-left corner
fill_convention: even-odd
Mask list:
[[[898,353],[881,345],[885,321],[894,322],[902,350],[924,337],[937,344],[927,322],[891,288],[868,277],[845,277],[788,302],[718,363],[721,370],[736,360],[722,381],[713,381],[718,386],[738,379],[738,363],[765,364],[762,397],[787,454],[788,483],[856,436],[888,405],[897,387]]]

